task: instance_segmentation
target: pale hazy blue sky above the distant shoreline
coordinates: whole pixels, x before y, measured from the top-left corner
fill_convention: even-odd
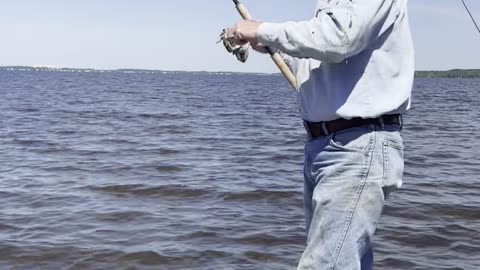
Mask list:
[[[365,0],[368,1],[368,0]],[[480,23],[480,1],[465,0]],[[260,21],[308,20],[313,0],[243,0]],[[417,70],[480,68],[480,34],[461,0],[410,0]],[[0,66],[276,72],[216,44],[239,20],[230,0],[0,0]]]

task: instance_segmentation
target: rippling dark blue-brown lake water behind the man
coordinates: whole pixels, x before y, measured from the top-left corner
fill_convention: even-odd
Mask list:
[[[417,80],[377,269],[480,269],[480,81]],[[0,72],[0,269],[294,269],[279,76]]]

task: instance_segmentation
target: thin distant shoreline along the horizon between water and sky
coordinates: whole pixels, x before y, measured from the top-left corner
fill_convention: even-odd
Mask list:
[[[56,68],[33,66],[0,66],[0,71],[38,71],[68,73],[132,73],[132,74],[209,74],[209,75],[280,75],[278,73],[248,73],[231,71],[175,71],[151,69],[91,69],[91,68]],[[445,71],[416,71],[415,78],[480,78],[480,69],[452,69]]]

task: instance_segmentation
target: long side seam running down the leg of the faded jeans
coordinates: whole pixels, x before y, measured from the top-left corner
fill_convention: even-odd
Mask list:
[[[350,208],[347,212],[347,216],[345,218],[345,222],[344,222],[344,226],[343,226],[343,231],[342,231],[342,234],[340,235],[340,238],[339,238],[339,241],[338,241],[338,244],[335,248],[335,251],[333,253],[333,256],[332,256],[332,260],[330,261],[330,264],[328,266],[328,269],[330,270],[334,270],[335,269],[335,265],[337,264],[338,262],[338,258],[340,256],[340,252],[342,251],[342,248],[343,248],[343,244],[345,243],[345,238],[350,230],[350,225],[352,224],[352,219],[353,219],[353,215],[355,213],[355,209],[357,208],[357,205],[358,205],[358,201],[360,200],[360,196],[364,190],[364,187],[365,187],[365,183],[366,183],[366,180],[367,180],[367,177],[368,177],[368,174],[370,172],[370,168],[371,168],[371,165],[372,165],[372,160],[373,160],[373,150],[374,150],[374,147],[375,147],[375,137],[376,137],[376,132],[373,131],[371,132],[372,136],[370,137],[370,146],[367,148],[367,151],[366,151],[366,160],[365,160],[365,163],[363,165],[363,170],[362,170],[362,173],[361,173],[361,181],[357,187],[357,190],[355,191],[355,194],[354,194],[354,197],[352,199],[352,202],[351,202],[351,205],[350,205]]]

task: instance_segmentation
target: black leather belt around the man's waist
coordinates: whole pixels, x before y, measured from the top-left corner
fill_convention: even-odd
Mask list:
[[[318,122],[312,123],[304,121],[305,129],[307,130],[308,134],[312,138],[320,137],[320,136],[328,136],[332,133],[339,132],[345,129],[359,127],[359,126],[366,126],[366,125],[399,125],[402,127],[402,115],[400,114],[391,114],[391,115],[384,115],[378,118],[352,118],[352,119],[337,119],[333,121],[327,122]]]

